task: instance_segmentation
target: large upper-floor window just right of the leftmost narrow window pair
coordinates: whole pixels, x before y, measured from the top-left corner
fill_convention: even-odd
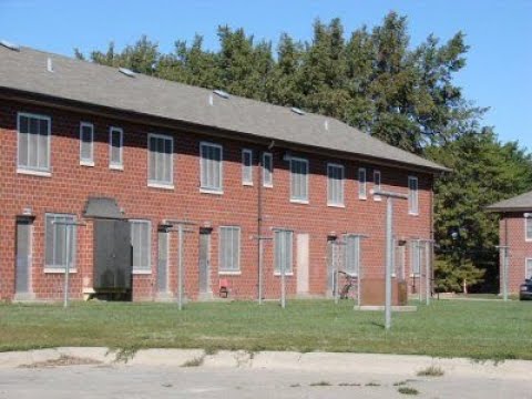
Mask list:
[[[147,184],[152,186],[173,187],[174,140],[161,134],[149,134],[147,150]]]

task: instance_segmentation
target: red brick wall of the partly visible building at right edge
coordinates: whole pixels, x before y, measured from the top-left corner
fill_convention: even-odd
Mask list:
[[[509,293],[512,294],[519,293],[519,286],[524,283],[525,278],[526,258],[532,258],[532,242],[525,239],[523,214],[524,212],[508,213],[501,217],[500,222],[500,245],[510,247],[508,287]],[[502,293],[502,270],[499,275]],[[526,278],[529,277],[526,276]]]

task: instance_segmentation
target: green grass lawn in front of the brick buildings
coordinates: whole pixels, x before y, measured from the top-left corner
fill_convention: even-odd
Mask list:
[[[417,354],[532,359],[532,303],[434,300],[417,313],[354,311],[342,300],[0,305],[0,351],[57,346]]]

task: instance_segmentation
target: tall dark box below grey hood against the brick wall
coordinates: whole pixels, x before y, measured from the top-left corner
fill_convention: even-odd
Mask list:
[[[94,289],[126,293],[132,288],[131,228],[126,219],[94,219]]]

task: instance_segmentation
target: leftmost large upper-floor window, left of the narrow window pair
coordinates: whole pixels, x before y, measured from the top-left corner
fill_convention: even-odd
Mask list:
[[[50,124],[48,116],[18,114],[18,172],[50,173]]]

